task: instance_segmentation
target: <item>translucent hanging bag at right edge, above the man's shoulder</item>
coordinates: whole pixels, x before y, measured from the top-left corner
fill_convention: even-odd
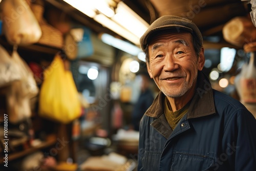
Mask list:
[[[244,51],[250,53],[250,60],[242,66],[241,73],[236,76],[235,86],[240,101],[256,118],[256,42],[246,44]]]

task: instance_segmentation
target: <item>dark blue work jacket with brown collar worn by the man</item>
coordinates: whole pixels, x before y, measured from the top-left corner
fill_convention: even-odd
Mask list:
[[[256,120],[238,100],[198,73],[188,112],[172,130],[164,94],[140,123],[138,170],[256,170]]]

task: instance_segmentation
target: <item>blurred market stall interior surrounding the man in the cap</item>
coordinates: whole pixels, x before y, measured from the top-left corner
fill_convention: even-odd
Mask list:
[[[0,2],[1,170],[135,170],[139,38],[163,15],[199,27],[212,86],[256,118],[253,1]]]

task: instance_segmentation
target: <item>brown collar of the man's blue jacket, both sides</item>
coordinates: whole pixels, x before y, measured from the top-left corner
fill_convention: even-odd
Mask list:
[[[158,118],[161,114],[163,114],[164,98],[165,95],[160,92],[145,115]],[[197,88],[195,95],[193,96],[188,107],[187,119],[198,118],[214,113],[216,113],[216,111],[210,81],[202,71],[199,71]]]

